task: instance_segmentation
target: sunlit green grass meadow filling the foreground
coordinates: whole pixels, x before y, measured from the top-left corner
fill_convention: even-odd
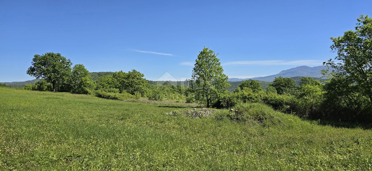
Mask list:
[[[166,114],[182,107],[0,87],[0,170],[372,168],[371,130]]]

